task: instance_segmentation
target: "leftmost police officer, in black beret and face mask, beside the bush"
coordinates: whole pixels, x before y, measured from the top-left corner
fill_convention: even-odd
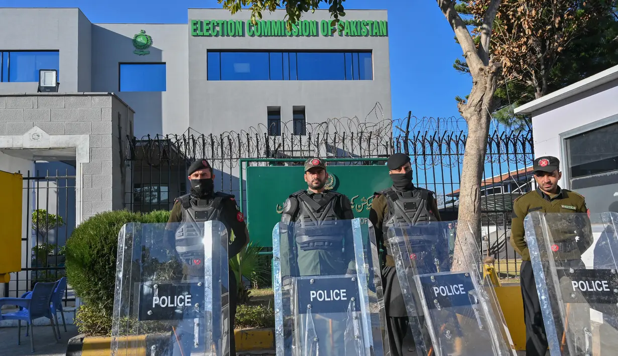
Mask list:
[[[213,168],[207,160],[196,160],[188,168],[188,179],[191,182],[191,189],[188,194],[177,197],[174,207],[167,223],[198,222],[219,220],[227,228],[227,236],[231,238],[234,232],[234,241],[230,241],[227,247],[227,254],[230,259],[240,253],[240,250],[248,243],[249,234],[244,217],[239,207],[234,201],[234,196],[224,192],[214,192],[214,173]],[[169,225],[168,225],[169,226]],[[173,226],[173,225],[172,225]],[[182,229],[175,231],[176,247],[186,246],[190,241],[188,236],[184,236]],[[203,248],[202,248],[203,250]],[[184,258],[180,254],[183,263],[183,273],[188,280],[203,279],[203,266],[200,259]],[[234,319],[236,315],[237,282],[232,269],[229,268],[229,337],[230,355],[236,355],[234,340]],[[179,329],[181,329],[179,327]],[[185,332],[186,331],[186,332]],[[179,339],[179,347],[182,348],[184,355],[191,354],[193,347],[193,328],[184,328],[178,331],[175,337]],[[183,338],[186,338],[184,340]],[[175,347],[176,349],[176,347]],[[176,355],[176,354],[174,354]]]

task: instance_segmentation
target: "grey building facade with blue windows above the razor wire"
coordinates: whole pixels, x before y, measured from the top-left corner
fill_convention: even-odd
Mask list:
[[[138,138],[269,122],[277,134],[294,120],[302,134],[303,121],[364,119],[376,102],[391,118],[386,10],[347,10],[334,33],[326,10],[291,30],[284,15],[253,25],[248,11],[189,9],[182,24],[95,24],[79,9],[0,9],[0,94],[36,92],[38,70],[56,69],[59,92],[116,93]]]

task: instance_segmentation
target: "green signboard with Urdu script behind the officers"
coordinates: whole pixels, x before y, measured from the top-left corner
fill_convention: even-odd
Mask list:
[[[344,194],[352,203],[354,217],[368,218],[373,193],[392,185],[386,165],[327,165],[327,189]],[[247,167],[247,228],[251,241],[273,246],[273,228],[281,221],[287,197],[307,189],[302,165]]]

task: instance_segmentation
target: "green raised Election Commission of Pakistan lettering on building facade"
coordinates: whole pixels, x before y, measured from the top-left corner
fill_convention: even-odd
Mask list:
[[[388,36],[387,22],[384,20],[345,20],[340,22],[342,27],[337,29],[339,36],[347,37],[386,37]],[[331,22],[328,20],[300,20],[292,25],[291,30],[286,27],[284,20],[190,20],[189,31],[192,36],[207,37],[331,37],[334,36]]]

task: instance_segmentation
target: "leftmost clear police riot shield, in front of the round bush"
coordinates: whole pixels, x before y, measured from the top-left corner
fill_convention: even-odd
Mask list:
[[[227,244],[220,221],[122,226],[111,354],[229,355]]]

